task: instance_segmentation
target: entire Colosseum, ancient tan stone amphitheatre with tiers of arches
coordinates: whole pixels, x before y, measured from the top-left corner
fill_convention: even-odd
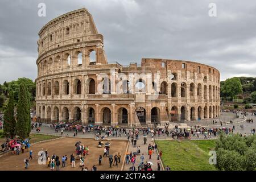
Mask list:
[[[36,116],[43,122],[152,127],[220,115],[220,72],[183,60],[108,62],[86,9],[39,31]]]

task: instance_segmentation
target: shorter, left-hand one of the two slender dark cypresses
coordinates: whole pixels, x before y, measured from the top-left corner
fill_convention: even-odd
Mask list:
[[[13,138],[15,135],[16,121],[14,118],[14,96],[13,92],[9,93],[9,101],[3,115],[3,135]]]

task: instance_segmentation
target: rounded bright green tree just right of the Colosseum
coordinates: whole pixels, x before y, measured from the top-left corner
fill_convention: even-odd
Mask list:
[[[221,88],[222,93],[227,97],[234,98],[237,94],[242,93],[242,84],[239,78],[228,78]]]

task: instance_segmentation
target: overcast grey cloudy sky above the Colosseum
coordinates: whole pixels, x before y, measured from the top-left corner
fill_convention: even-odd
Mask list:
[[[46,4],[46,17],[38,4]],[[210,17],[209,3],[217,16]],[[38,32],[49,20],[85,7],[104,35],[109,61],[192,60],[233,76],[256,77],[255,0],[1,0],[0,84],[36,78]]]

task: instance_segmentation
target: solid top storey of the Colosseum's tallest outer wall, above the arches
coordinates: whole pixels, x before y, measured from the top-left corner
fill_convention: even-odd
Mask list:
[[[96,39],[103,44],[92,15],[79,9],[51,20],[39,31],[38,53],[40,56],[54,48]]]

